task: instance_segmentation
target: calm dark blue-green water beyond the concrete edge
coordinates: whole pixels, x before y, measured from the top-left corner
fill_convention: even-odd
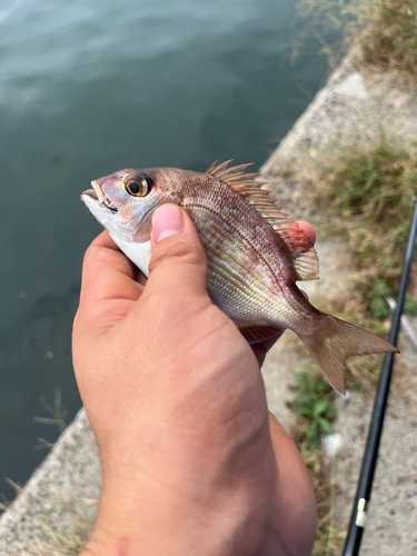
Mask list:
[[[289,63],[294,0],[0,0],[0,493],[24,483],[80,407],[70,353],[79,200],[122,167],[259,166],[322,85]],[[301,92],[302,91],[302,92]],[[305,91],[308,91],[307,95]]]

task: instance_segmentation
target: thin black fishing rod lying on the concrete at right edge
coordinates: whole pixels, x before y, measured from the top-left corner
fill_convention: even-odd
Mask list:
[[[408,236],[406,256],[404,259],[397,306],[393,314],[391,329],[389,332],[389,341],[394,346],[397,345],[404,301],[406,298],[408,278],[411,268],[414,244],[417,232],[417,197],[413,197],[413,221]],[[395,354],[385,355],[383,370],[380,373],[378,383],[378,389],[375,395],[373,416],[370,418],[368,438],[366,441],[365,454],[359,475],[359,483],[355,496],[354,509],[351,513],[349,529],[345,543],[344,556],[357,556],[359,554],[360,540],[367,519],[367,506],[370,498],[374,474],[377,465],[379,443],[383,434],[385,410],[387,408],[389,385],[393,376],[394,355]]]

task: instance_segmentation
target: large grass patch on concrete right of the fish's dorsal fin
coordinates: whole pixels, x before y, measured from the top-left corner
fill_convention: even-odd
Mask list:
[[[370,319],[353,324],[378,328],[375,320],[389,315],[384,296],[396,294],[401,275],[416,193],[417,149],[380,136],[374,143],[355,143],[332,160],[315,165],[300,179],[308,185],[311,203],[331,215],[329,228],[347,244],[358,271],[356,290]],[[415,282],[411,276],[413,312]]]

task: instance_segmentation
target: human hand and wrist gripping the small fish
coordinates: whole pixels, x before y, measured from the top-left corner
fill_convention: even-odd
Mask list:
[[[85,554],[307,555],[311,484],[257,359],[207,295],[189,217],[163,206],[152,227],[146,286],[107,232],[86,254],[73,361],[102,492]]]

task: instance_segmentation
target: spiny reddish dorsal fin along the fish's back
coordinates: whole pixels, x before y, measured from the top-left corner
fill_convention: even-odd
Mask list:
[[[318,280],[318,258],[311,241],[304,235],[298,224],[281,212],[281,207],[269,197],[270,191],[261,189],[265,181],[255,181],[259,173],[245,173],[249,165],[228,168],[231,160],[221,165],[214,162],[207,170],[209,176],[232,187],[260,214],[276,234],[286,242],[292,255],[292,266],[298,280]]]

